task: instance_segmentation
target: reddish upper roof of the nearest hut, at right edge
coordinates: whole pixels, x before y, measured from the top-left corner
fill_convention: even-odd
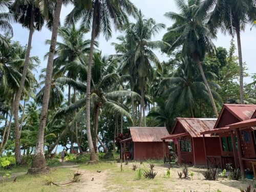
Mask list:
[[[250,119],[256,110],[256,104],[224,104],[224,106],[241,121]]]

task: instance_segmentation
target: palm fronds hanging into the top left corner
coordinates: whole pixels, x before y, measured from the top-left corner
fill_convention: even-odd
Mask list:
[[[13,36],[12,26],[10,23],[14,21],[13,14],[9,13],[11,0],[0,0],[0,31]],[[8,39],[0,34],[0,45],[7,48],[9,46]]]

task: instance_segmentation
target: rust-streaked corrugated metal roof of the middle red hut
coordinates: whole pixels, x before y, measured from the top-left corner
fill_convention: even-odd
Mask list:
[[[191,137],[202,137],[201,132],[214,129],[217,118],[177,118],[177,121]],[[210,135],[205,135],[205,137],[210,137]]]

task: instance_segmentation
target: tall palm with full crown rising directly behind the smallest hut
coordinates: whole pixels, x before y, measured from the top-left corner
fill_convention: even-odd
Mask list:
[[[126,60],[122,63],[123,66],[121,68],[123,71],[126,70],[126,73],[137,75],[139,78],[143,126],[146,126],[144,104],[146,81],[147,79],[153,79],[154,70],[152,64],[161,68],[160,62],[152,50],[168,45],[163,41],[152,41],[151,39],[164,27],[164,24],[157,24],[152,18],[145,19],[140,11],[137,16],[137,22],[126,27],[126,37],[122,38],[127,39],[123,43],[126,44],[124,46],[128,48],[126,49],[128,52],[121,57],[123,57],[122,59],[132,58],[133,61]],[[117,45],[116,48],[118,51]]]

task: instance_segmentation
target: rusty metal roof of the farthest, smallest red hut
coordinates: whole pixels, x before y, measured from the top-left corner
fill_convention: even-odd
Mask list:
[[[162,142],[169,135],[166,127],[130,127],[133,142]]]

